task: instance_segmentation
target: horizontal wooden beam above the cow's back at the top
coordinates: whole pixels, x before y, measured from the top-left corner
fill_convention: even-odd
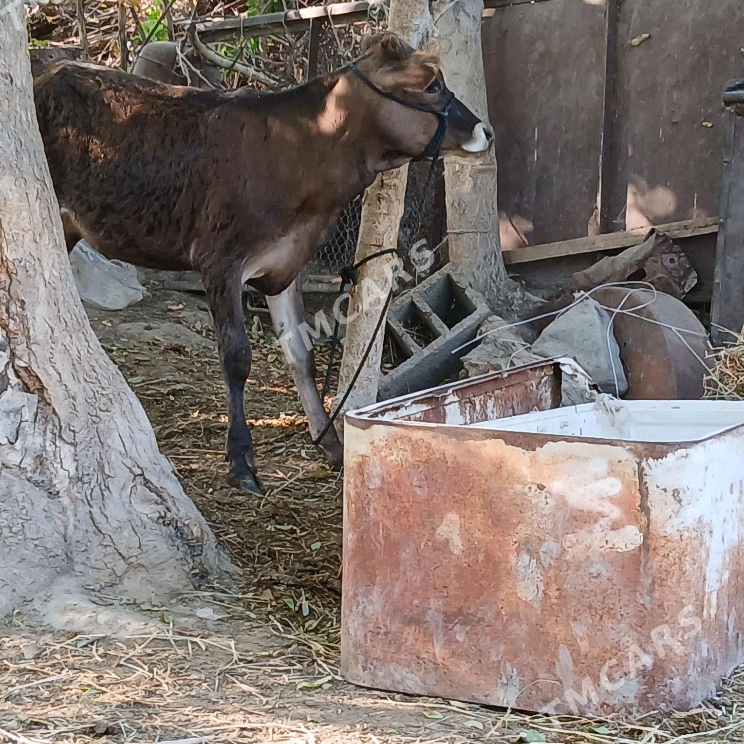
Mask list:
[[[349,25],[368,18],[370,2],[337,2],[330,5],[304,7],[298,10],[287,10],[286,13],[266,13],[251,18],[228,18],[224,21],[197,22],[196,31],[203,42],[218,42],[240,36],[249,39],[254,36],[271,36],[275,33],[304,33],[310,30],[310,23],[315,19],[322,22],[329,20],[335,25]],[[180,20],[176,25],[190,23]]]

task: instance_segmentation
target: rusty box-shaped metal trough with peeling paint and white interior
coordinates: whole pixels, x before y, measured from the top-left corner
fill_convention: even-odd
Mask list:
[[[744,660],[744,404],[499,420],[557,408],[565,371],[530,365],[347,415],[351,682],[638,715],[692,708]]]

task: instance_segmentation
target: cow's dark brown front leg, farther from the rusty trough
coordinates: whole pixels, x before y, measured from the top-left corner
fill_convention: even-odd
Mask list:
[[[243,323],[240,269],[202,272],[207,301],[214,318],[219,360],[228,396],[228,457],[231,485],[263,496],[253,455],[253,440],[246,423],[244,392],[251,372],[251,343]]]

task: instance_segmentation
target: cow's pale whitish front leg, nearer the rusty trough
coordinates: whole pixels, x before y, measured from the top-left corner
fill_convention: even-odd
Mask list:
[[[269,311],[272,314],[274,330],[279,338],[284,356],[289,363],[292,379],[295,380],[302,407],[310,422],[310,434],[313,441],[325,429],[330,420],[320,394],[315,385],[315,353],[307,333],[301,333],[300,326],[305,322],[305,309],[302,301],[300,278],[280,295],[267,297]],[[344,462],[344,448],[339,435],[333,426],[328,429],[318,443],[333,469],[341,469]]]

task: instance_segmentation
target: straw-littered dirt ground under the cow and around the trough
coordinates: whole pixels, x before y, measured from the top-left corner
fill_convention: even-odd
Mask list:
[[[77,596],[0,625],[0,741],[593,742],[744,740],[744,673],[697,711],[630,722],[542,716],[353,687],[339,677],[341,478],[310,443],[269,330],[251,325],[248,411],[269,494],[228,487],[227,419],[199,295],[150,286],[121,312],[90,310],[186,492],[242,569],[167,606]],[[176,324],[193,333],[176,338]],[[129,324],[145,324],[132,327]],[[150,336],[147,341],[143,334]],[[321,350],[321,368],[325,352]]]

